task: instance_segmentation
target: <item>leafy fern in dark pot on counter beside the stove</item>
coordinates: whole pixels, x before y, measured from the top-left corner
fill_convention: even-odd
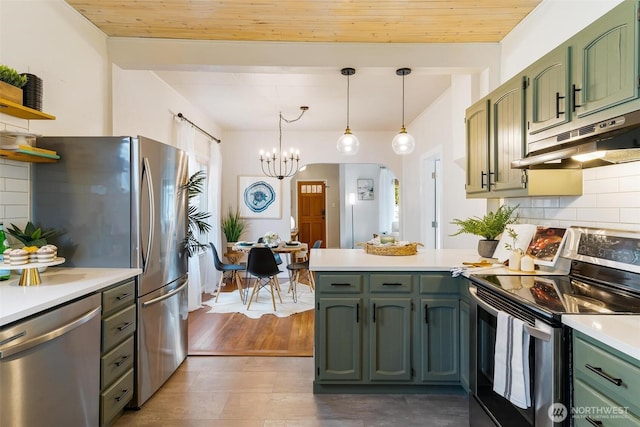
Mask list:
[[[489,212],[482,218],[477,216],[464,220],[455,218],[451,224],[457,225],[459,230],[452,236],[475,234],[482,237],[483,239],[478,242],[478,254],[485,258],[491,258],[496,246],[498,246],[497,237],[502,234],[507,225],[518,220],[518,215],[513,215],[518,206],[502,205],[495,212]]]

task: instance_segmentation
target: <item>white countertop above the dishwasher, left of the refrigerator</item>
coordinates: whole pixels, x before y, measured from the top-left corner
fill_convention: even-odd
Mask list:
[[[0,282],[0,326],[98,292],[142,273],[137,268],[49,267],[37,286],[19,286],[19,276]]]

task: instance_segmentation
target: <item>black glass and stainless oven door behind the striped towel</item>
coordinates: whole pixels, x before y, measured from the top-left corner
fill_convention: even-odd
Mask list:
[[[470,388],[469,424],[472,427],[548,427],[562,426],[564,419],[549,415],[553,403],[564,402],[561,368],[562,329],[532,318],[517,304],[491,293],[491,302],[478,296],[477,286],[469,285],[470,305]],[[498,310],[506,311],[529,326],[533,342],[529,346],[531,407],[521,409],[493,391],[494,353]],[[532,326],[532,325],[535,325]],[[569,378],[568,374],[565,378]],[[566,405],[566,407],[569,407]],[[555,408],[555,406],[554,406]],[[566,413],[565,413],[566,417]]]

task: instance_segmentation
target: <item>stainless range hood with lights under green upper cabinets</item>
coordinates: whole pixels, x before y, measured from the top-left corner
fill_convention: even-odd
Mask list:
[[[640,111],[581,126],[528,144],[515,169],[585,169],[640,160]]]

